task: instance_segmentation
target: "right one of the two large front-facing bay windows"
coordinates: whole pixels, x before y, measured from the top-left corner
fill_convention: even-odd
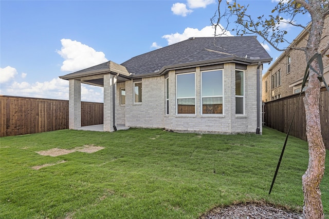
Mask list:
[[[202,114],[223,114],[223,71],[202,72]]]

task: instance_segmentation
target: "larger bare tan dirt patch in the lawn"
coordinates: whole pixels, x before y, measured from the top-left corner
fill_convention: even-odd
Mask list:
[[[43,155],[43,156],[60,156],[64,154],[73,153],[76,151],[85,152],[85,153],[94,153],[96,151],[104,149],[100,146],[94,146],[94,145],[84,145],[82,147],[76,147],[74,149],[60,149],[60,148],[52,148],[46,151],[36,151],[36,153]]]

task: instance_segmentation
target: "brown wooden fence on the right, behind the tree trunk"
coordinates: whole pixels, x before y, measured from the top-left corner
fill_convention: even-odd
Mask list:
[[[307,141],[306,138],[306,118],[302,93],[296,115],[291,126],[290,135]],[[265,103],[264,125],[287,133],[295,108],[298,103],[299,94],[290,95]],[[320,93],[320,121],[324,145],[329,149],[329,95],[325,88],[321,88]]]

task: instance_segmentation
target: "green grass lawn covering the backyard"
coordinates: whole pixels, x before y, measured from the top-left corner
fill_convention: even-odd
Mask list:
[[[307,143],[285,135],[180,134],[161,129],[60,130],[0,138],[0,218],[198,218],[216,206],[266,202],[301,210]],[[36,151],[102,146],[95,153]],[[32,167],[56,164],[39,170]],[[329,218],[329,157],[321,183]]]

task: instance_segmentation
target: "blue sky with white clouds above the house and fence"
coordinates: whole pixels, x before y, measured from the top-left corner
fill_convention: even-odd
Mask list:
[[[277,4],[241,3],[249,4],[255,16],[270,14]],[[59,76],[109,60],[121,64],[192,36],[213,36],[210,18],[216,9],[216,0],[1,0],[0,94],[68,99],[68,82]],[[303,25],[310,21],[309,15],[297,19]],[[280,28],[288,30],[290,40],[301,32]],[[258,40],[263,43],[260,36]],[[281,54],[264,46],[273,61]],[[103,90],[83,85],[81,99],[102,102]]]

